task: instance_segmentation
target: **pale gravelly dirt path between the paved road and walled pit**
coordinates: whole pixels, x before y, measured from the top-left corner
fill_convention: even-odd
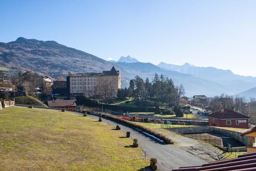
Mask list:
[[[218,160],[217,155],[220,150],[211,144],[191,139],[189,137],[164,129],[155,129],[155,131],[167,135],[175,142],[175,145],[178,148],[183,149],[204,161],[210,162]]]

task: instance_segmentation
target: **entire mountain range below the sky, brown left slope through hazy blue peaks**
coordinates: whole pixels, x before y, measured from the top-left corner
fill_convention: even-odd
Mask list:
[[[113,64],[117,70],[121,69],[122,87],[129,86],[130,80],[137,75],[144,80],[146,77],[151,80],[157,73],[171,78],[175,85],[182,84],[188,97],[223,93],[256,98],[256,77],[235,75],[230,70],[196,67],[188,63],[177,66],[161,62],[155,66],[139,62],[131,56],[122,56],[117,62],[106,61],[54,41],[44,42],[22,37],[14,42],[0,43],[0,65],[10,68],[10,72],[28,69],[57,78],[66,77],[68,72],[102,72],[111,69]]]

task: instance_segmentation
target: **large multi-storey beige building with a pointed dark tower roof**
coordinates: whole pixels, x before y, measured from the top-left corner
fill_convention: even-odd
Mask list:
[[[102,73],[75,74],[67,77],[70,94],[83,94],[99,97],[114,97],[121,88],[120,71],[112,67]]]

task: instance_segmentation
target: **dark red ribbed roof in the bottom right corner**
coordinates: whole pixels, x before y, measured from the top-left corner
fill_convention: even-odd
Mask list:
[[[172,171],[181,170],[256,170],[256,152],[240,154],[237,158],[213,161],[202,166],[180,167]]]

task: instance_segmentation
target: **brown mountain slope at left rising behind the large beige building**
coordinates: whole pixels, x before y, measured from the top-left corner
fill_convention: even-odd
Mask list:
[[[66,76],[69,71],[101,72],[111,68],[111,63],[75,48],[23,37],[0,43],[0,62],[3,66],[27,68],[53,78]]]

